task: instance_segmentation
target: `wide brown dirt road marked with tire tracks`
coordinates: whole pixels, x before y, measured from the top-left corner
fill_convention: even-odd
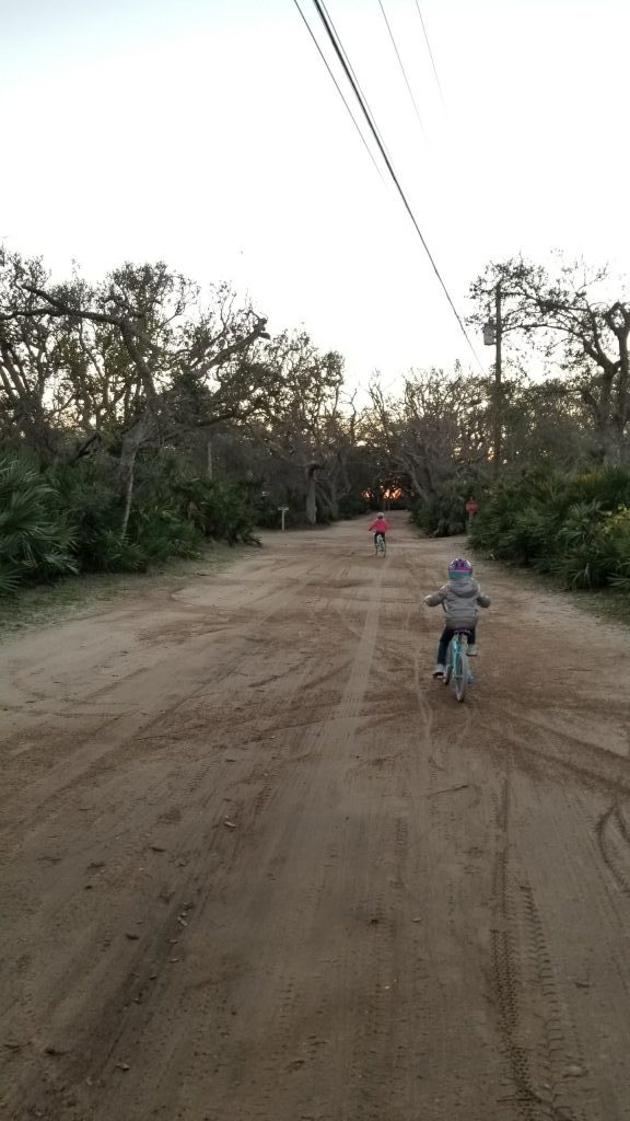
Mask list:
[[[460,544],[461,547],[461,543]],[[270,537],[0,647],[2,1121],[630,1118],[628,632]]]

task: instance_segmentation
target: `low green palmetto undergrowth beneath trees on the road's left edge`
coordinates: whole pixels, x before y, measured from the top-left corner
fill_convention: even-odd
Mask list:
[[[115,463],[108,456],[41,467],[0,456],[0,594],[78,572],[138,572],[198,555],[204,539],[254,543],[251,489],[142,461],[123,534]]]

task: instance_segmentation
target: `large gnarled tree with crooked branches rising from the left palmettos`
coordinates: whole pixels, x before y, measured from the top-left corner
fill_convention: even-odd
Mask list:
[[[87,439],[103,436],[104,418],[124,426],[124,531],[145,443],[164,443],[186,424],[212,425],[256,408],[256,373],[263,367],[242,358],[268,337],[267,321],[251,306],[238,306],[224,286],[204,307],[198,287],[163,262],[127,263],[95,288],[77,276],[50,285],[41,268],[25,267],[18,257],[8,261],[8,272],[4,332],[19,335],[36,324],[50,339],[58,323],[65,358],[59,385],[67,385],[84,433],[92,428]]]

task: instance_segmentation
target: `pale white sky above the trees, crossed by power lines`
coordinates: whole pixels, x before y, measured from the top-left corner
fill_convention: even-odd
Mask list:
[[[382,2],[426,138],[379,0],[327,8],[460,312],[520,251],[627,272],[630,2],[419,0],[445,105],[416,0]],[[9,248],[230,280],[353,385],[473,363],[294,0],[0,0],[0,110]]]

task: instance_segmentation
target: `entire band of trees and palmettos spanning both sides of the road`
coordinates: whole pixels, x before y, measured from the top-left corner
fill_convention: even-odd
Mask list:
[[[204,295],[164,263],[58,284],[4,254],[0,591],[252,541],[281,506],[313,525],[399,501],[425,532],[461,532],[471,497],[480,548],[544,567],[562,539],[571,583],[623,580],[630,303],[610,286],[583,266],[489,266],[471,324],[499,295],[501,378],[410,371],[390,395],[376,378],[359,408],[336,351],[271,334],[225,286]]]

